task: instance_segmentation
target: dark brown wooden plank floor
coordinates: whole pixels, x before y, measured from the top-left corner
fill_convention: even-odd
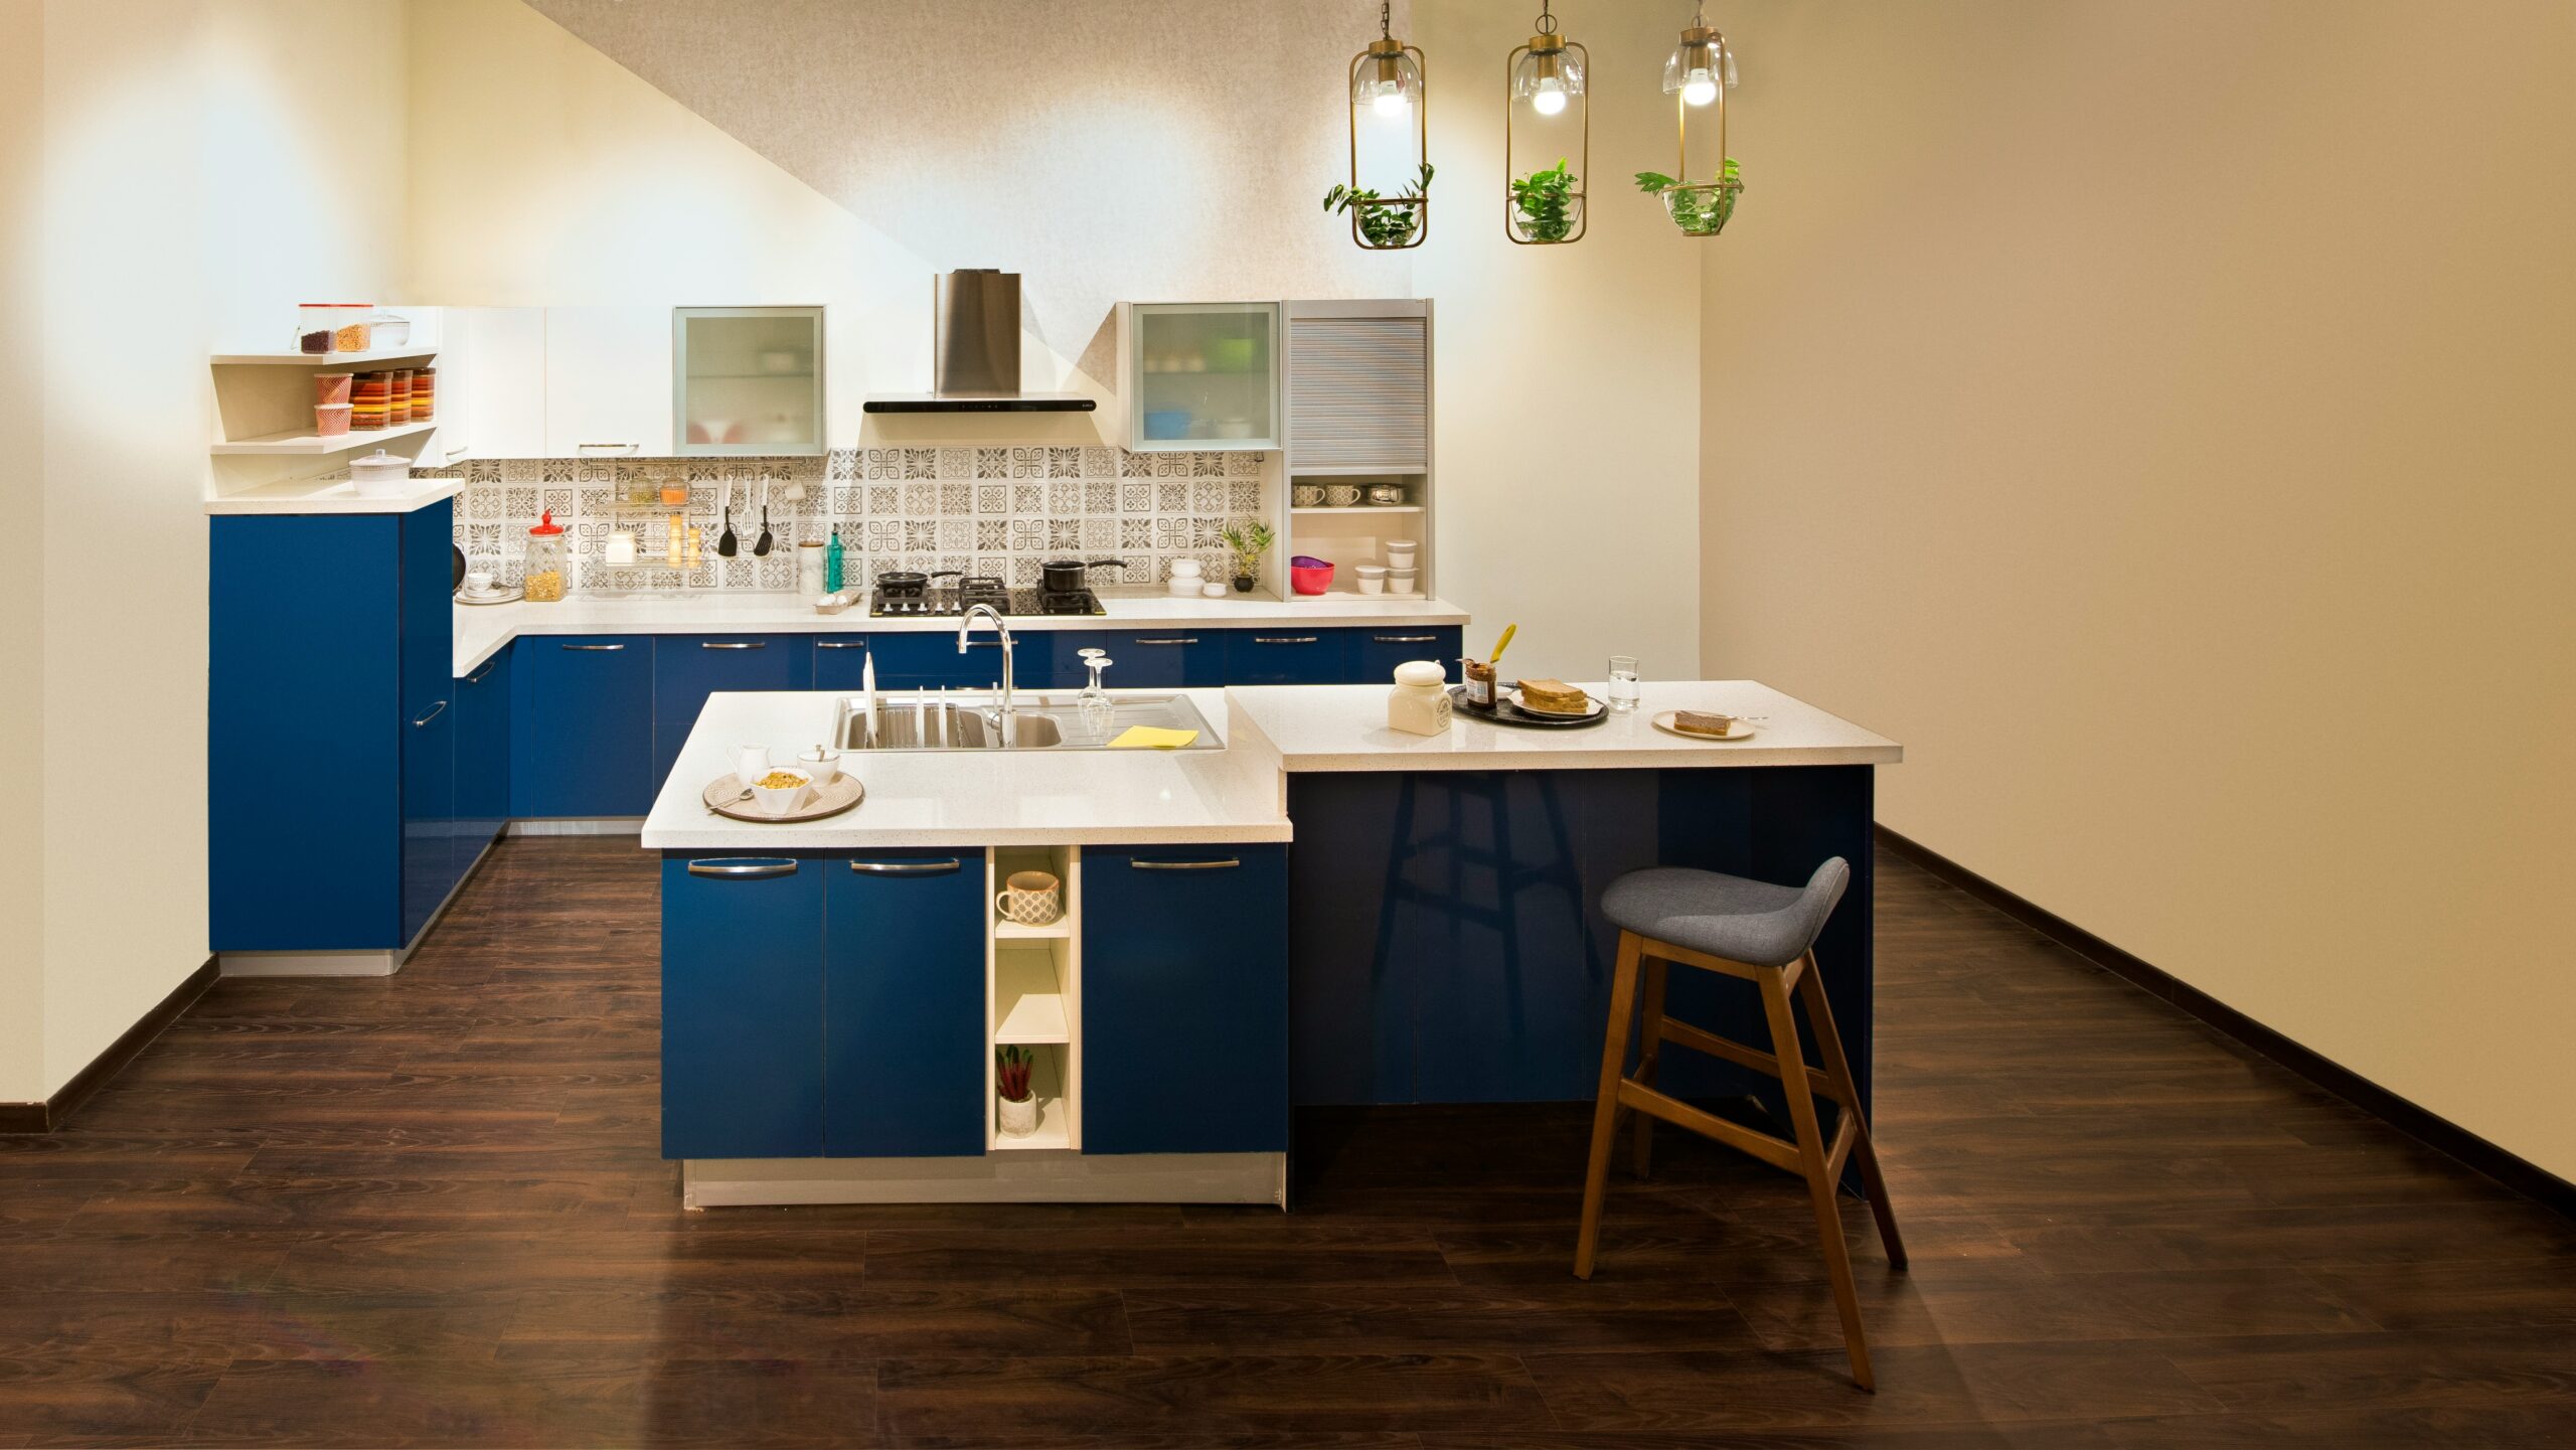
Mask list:
[[[1878,881],[1878,1396],[1716,1149],[1577,1283],[1574,1107],[1306,1118],[1293,1216],[680,1213],[652,863],[520,840],[402,976],[224,981],[0,1138],[0,1447],[2576,1442],[2576,1223]]]

